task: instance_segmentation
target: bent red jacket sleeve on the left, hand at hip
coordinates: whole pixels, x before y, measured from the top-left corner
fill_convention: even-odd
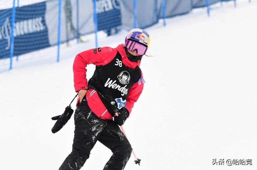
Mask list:
[[[86,78],[87,65],[106,65],[112,61],[117,54],[117,50],[111,47],[89,49],[76,55],[73,63],[74,88],[75,91],[87,89],[88,80]]]

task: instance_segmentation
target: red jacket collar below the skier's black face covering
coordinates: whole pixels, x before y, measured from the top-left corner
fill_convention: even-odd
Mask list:
[[[115,48],[121,55],[122,63],[130,69],[135,69],[137,66],[140,66],[141,61],[138,60],[137,62],[130,61],[126,55],[125,48],[122,44],[118,45]]]

